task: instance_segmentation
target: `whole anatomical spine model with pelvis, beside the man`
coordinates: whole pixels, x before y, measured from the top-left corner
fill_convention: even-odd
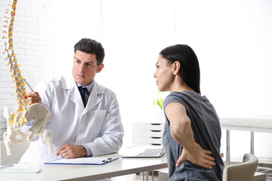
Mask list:
[[[11,82],[13,83],[15,96],[15,107],[12,113],[10,109],[5,107],[3,109],[3,116],[7,119],[7,132],[3,134],[5,141],[7,155],[13,155],[12,145],[17,145],[27,141],[30,143],[36,136],[43,137],[43,143],[47,145],[49,153],[52,153],[52,134],[50,130],[45,130],[44,127],[47,122],[51,120],[51,113],[42,104],[27,104],[26,88],[24,78],[17,64],[16,54],[13,49],[13,24],[15,22],[15,10],[17,0],[11,0],[8,3],[5,15],[3,17],[3,54],[8,72],[10,72]],[[27,114],[26,114],[27,113]],[[24,134],[21,130],[26,123],[33,122],[33,126],[29,129],[29,135]]]

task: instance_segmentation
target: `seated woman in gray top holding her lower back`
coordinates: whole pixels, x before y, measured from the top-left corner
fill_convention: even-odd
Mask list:
[[[216,110],[200,95],[200,71],[188,45],[160,52],[154,74],[159,91],[169,91],[163,102],[169,180],[222,180],[221,129]]]

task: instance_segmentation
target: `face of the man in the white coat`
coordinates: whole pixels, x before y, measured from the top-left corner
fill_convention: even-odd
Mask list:
[[[82,86],[91,84],[96,73],[104,68],[104,64],[97,65],[96,54],[87,54],[77,50],[73,60],[72,74],[75,81]]]

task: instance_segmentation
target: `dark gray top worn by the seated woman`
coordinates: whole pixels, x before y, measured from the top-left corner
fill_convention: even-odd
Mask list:
[[[195,141],[204,150],[213,152],[216,166],[212,169],[202,168],[191,162],[183,162],[176,167],[182,145],[176,143],[170,134],[169,120],[165,116],[165,131],[163,133],[163,145],[167,154],[169,166],[169,180],[222,180],[224,164],[220,157],[221,128],[216,110],[206,96],[201,96],[193,91],[170,93],[163,102],[163,108],[171,102],[178,102],[186,107],[187,116],[191,120],[192,132]]]

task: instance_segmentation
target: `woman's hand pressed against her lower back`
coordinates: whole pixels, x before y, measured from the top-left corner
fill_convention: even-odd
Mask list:
[[[209,150],[204,150],[199,144],[194,143],[190,146],[190,150],[183,148],[181,156],[176,161],[176,166],[180,166],[182,162],[189,161],[192,162],[192,164],[211,169],[212,166],[216,165],[214,162],[215,159],[207,154],[210,155],[212,152]]]

